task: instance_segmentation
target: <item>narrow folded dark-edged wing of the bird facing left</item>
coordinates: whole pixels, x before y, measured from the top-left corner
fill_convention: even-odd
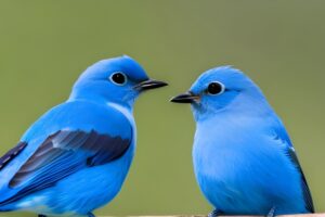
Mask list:
[[[283,126],[283,125],[281,124],[280,126]],[[301,182],[301,189],[302,189],[302,193],[303,193],[304,206],[310,213],[314,213],[314,205],[313,205],[313,200],[312,200],[312,196],[310,193],[310,189],[308,187],[304,174],[301,169],[300,163],[298,161],[298,157],[297,157],[296,151],[292,146],[292,143],[290,141],[290,138],[284,127],[277,127],[277,129],[275,130],[275,139],[280,140],[281,143],[284,144],[285,154],[289,157],[291,163],[295,165],[297,170],[300,173],[300,177],[301,177],[300,182]]]

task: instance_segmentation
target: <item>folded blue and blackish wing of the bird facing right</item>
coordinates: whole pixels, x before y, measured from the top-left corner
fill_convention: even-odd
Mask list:
[[[20,191],[0,205],[52,187],[82,168],[117,159],[126,153],[130,144],[131,138],[110,137],[94,130],[58,130],[49,136],[13,176],[9,187],[20,188]],[[15,149],[20,150],[20,146]]]

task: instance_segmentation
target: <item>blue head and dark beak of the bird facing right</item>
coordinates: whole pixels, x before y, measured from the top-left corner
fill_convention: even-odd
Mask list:
[[[132,107],[140,93],[164,86],[167,84],[150,79],[139,63],[122,55],[88,67],[74,85],[69,100],[113,102]]]

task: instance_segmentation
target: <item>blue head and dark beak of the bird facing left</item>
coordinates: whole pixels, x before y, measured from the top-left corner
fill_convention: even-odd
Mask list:
[[[260,89],[244,73],[221,66],[203,73],[191,89],[171,99],[191,103],[196,120],[224,111],[255,110],[265,102]]]

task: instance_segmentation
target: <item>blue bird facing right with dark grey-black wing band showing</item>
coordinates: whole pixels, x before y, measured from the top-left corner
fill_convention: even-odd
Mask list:
[[[88,67],[68,100],[0,158],[0,212],[93,217],[119,192],[132,162],[135,99],[166,85],[126,55]]]

